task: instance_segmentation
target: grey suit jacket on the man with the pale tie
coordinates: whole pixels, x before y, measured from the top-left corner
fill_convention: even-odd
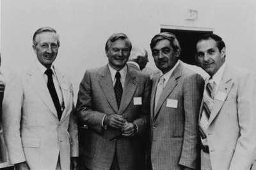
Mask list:
[[[196,168],[200,160],[197,120],[204,80],[179,64],[163,89],[154,112],[158,81],[159,76],[153,78],[150,102],[152,169]]]

